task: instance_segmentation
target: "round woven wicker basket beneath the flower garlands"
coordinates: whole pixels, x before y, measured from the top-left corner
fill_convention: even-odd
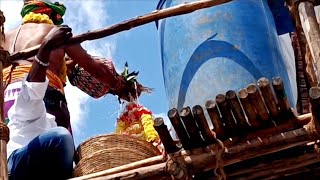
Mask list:
[[[74,176],[83,176],[159,155],[151,143],[128,135],[100,135],[77,148],[79,163]]]

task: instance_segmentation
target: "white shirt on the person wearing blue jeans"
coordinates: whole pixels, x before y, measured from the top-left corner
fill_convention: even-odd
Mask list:
[[[48,87],[45,82],[22,81],[21,90],[8,111],[10,140],[7,145],[7,157],[41,133],[56,127],[55,117],[48,114],[43,97]]]

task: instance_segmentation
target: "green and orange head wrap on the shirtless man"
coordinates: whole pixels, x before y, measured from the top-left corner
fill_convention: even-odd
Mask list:
[[[66,7],[58,2],[28,1],[25,2],[20,14],[23,18],[30,12],[47,14],[55,25],[60,25],[63,23],[62,16],[66,12]]]

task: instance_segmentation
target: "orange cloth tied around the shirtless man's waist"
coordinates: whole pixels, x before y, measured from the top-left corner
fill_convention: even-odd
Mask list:
[[[17,82],[17,81],[21,81],[26,74],[29,73],[30,68],[31,68],[32,64],[27,64],[27,65],[19,65],[16,66],[13,71],[11,72],[11,67],[9,66],[5,69],[3,69],[3,81],[5,81],[5,83],[9,83],[9,82]],[[10,81],[10,72],[11,72],[11,81]],[[66,83],[66,81],[63,81],[63,79],[61,80],[57,75],[55,75],[52,71],[47,70],[47,78],[49,79],[49,86],[60,91],[62,94],[64,94],[64,84]],[[66,80],[66,78],[64,77],[64,80]]]

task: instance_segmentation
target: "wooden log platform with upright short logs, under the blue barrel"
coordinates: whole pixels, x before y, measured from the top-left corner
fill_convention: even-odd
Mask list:
[[[309,94],[312,107],[319,106],[320,88],[311,88]],[[280,78],[275,77],[271,83],[261,78],[257,84],[238,92],[230,90],[219,94],[204,107],[214,129],[209,129],[205,110],[200,105],[169,110],[168,117],[180,143],[172,140],[162,118],[155,119],[155,128],[167,156],[156,156],[74,180],[218,179],[224,176],[229,179],[283,179],[302,174],[320,177],[319,136],[310,128],[319,122],[315,111],[295,115]]]

